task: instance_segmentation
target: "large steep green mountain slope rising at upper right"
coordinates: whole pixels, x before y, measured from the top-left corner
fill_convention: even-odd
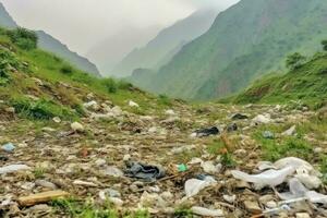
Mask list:
[[[142,88],[184,99],[239,92],[265,73],[282,71],[287,55],[317,51],[327,38],[326,23],[325,0],[242,0]]]

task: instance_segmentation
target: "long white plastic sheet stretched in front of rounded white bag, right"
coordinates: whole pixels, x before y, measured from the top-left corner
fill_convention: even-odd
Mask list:
[[[259,174],[247,174],[242,171],[232,170],[231,173],[235,179],[243,180],[245,182],[255,183],[258,186],[271,186],[275,187],[283,183],[288,175],[293,174],[295,169],[293,167],[287,167],[281,170],[267,170]]]

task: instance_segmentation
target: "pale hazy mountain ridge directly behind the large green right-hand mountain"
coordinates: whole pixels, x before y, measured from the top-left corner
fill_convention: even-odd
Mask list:
[[[162,29],[143,48],[135,48],[111,74],[123,77],[132,74],[135,69],[158,70],[168,63],[180,51],[182,46],[204,34],[213,24],[217,10],[199,10],[172,26]]]

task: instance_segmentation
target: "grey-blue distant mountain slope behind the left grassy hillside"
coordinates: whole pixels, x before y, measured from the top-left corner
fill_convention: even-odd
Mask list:
[[[8,28],[16,28],[19,25],[10,16],[7,12],[3,4],[0,2],[0,26],[8,27]],[[71,62],[76,68],[88,72],[93,75],[100,76],[97,66],[87,60],[84,57],[81,57],[76,52],[71,51],[65,45],[63,45],[60,40],[53,38],[49,34],[37,31],[38,36],[38,44],[39,47],[46,51],[53,52],[55,55],[65,59],[66,61]]]

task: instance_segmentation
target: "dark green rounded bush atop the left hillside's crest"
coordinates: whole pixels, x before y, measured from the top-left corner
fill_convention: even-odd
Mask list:
[[[13,31],[8,31],[8,36],[11,41],[14,43],[17,47],[24,50],[32,50],[37,47],[37,35],[33,31],[26,28],[16,28]]]

